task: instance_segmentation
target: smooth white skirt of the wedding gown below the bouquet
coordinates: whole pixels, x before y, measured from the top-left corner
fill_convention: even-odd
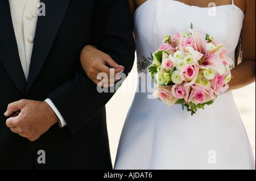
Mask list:
[[[136,93],[119,141],[116,170],[251,170],[253,151],[232,91],[204,110],[173,108]]]

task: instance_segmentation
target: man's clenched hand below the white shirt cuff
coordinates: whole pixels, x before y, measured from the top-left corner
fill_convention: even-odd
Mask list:
[[[37,140],[59,120],[46,102],[25,99],[9,104],[5,116],[10,116],[7,127],[30,141]]]

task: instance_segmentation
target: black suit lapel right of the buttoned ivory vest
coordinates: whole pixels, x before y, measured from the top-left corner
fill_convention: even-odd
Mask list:
[[[38,17],[26,92],[30,89],[42,69],[44,61],[46,61],[70,0],[41,0],[41,2],[46,7],[46,16]]]

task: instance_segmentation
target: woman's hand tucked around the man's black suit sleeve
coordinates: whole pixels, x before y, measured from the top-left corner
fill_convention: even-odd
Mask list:
[[[114,82],[121,79],[119,73],[122,73],[125,69],[123,66],[118,65],[117,62],[112,60],[108,54],[101,52],[91,45],[86,45],[82,49],[80,61],[82,69],[84,69],[87,76],[96,83],[96,85],[98,85],[99,82],[104,83],[104,87],[113,86]],[[110,68],[114,69],[114,74],[110,74]],[[97,79],[97,76],[100,73],[106,73],[108,76],[102,79]]]

